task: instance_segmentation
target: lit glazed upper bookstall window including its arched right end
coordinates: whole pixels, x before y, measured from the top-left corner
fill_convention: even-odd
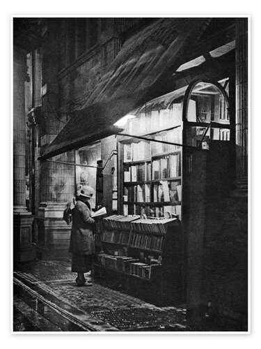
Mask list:
[[[187,180],[183,172],[189,174],[204,166],[202,158],[192,161],[199,157],[189,151],[201,154],[199,150],[208,152],[212,144],[212,149],[217,149],[230,140],[228,97],[223,86],[195,82],[148,101],[116,122],[124,130],[119,139],[118,171],[122,214],[177,216],[182,221],[182,185]],[[225,148],[220,148],[220,154]],[[200,165],[195,167],[195,163]]]

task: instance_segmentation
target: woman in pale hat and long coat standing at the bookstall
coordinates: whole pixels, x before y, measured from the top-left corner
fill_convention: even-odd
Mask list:
[[[91,286],[86,282],[84,273],[93,269],[95,240],[93,235],[94,219],[88,200],[93,198],[93,188],[83,186],[72,209],[72,232],[69,251],[72,253],[72,272],[77,273],[78,286]]]

